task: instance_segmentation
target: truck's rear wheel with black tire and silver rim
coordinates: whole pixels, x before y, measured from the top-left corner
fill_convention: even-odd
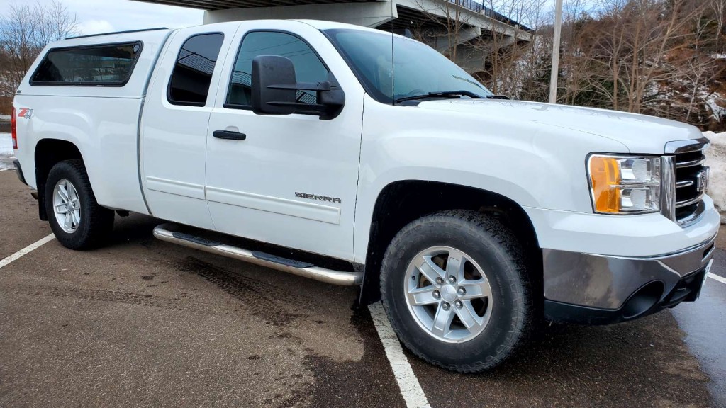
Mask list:
[[[98,205],[83,160],[66,160],[53,166],[44,194],[50,227],[63,246],[87,250],[106,242],[113,230],[114,213]]]

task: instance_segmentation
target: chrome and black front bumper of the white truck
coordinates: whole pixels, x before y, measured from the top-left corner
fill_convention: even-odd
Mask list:
[[[545,249],[544,313],[554,321],[604,325],[695,301],[715,240],[648,257]]]

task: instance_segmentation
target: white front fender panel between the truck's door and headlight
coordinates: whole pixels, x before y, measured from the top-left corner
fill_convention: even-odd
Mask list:
[[[585,161],[594,151],[627,152],[627,147],[517,118],[383,105],[367,97],[356,261],[365,260],[375,203],[388,184],[439,181],[494,192],[521,207],[591,213]]]

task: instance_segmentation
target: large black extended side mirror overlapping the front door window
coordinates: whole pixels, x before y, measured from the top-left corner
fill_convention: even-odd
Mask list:
[[[286,57],[259,55],[252,60],[252,111],[258,115],[314,113],[333,119],[343,110],[346,94],[332,81],[299,83],[295,66]],[[298,101],[298,91],[316,91],[316,104]]]

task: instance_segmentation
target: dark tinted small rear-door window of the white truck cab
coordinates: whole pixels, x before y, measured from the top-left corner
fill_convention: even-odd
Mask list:
[[[171,73],[169,102],[174,105],[205,105],[222,41],[224,36],[215,33],[193,36],[184,42]]]

